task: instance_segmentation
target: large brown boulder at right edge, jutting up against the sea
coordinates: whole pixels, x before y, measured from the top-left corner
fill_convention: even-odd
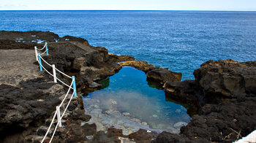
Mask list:
[[[194,75],[207,95],[234,98],[256,93],[256,61],[210,60],[196,69]]]

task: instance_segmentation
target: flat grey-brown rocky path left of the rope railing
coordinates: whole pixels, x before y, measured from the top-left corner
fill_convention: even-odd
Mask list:
[[[0,85],[18,85],[21,80],[42,77],[34,62],[34,50],[0,50]]]

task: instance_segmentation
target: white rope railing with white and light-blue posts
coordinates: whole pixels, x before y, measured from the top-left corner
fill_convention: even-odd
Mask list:
[[[43,52],[43,53],[41,53],[41,54],[38,53],[37,50],[43,50],[44,48],[46,48],[45,52]],[[47,53],[47,55],[48,55],[48,43],[47,43],[47,42],[45,42],[45,46],[42,47],[42,49],[37,49],[37,47],[34,47],[34,50],[35,50],[35,54],[36,54],[36,59],[37,59],[37,61],[38,61],[38,63],[39,63],[39,69],[40,69],[40,71],[43,71],[43,69],[44,69],[48,74],[50,74],[50,75],[53,77],[53,82],[59,81],[59,82],[61,82],[62,84],[66,85],[66,86],[69,88],[69,89],[67,90],[66,95],[65,95],[64,98],[62,99],[61,104],[59,104],[59,106],[56,107],[56,112],[55,112],[55,114],[53,115],[53,119],[52,119],[52,121],[51,121],[51,123],[50,123],[50,125],[49,125],[49,127],[48,127],[48,130],[47,130],[47,132],[45,133],[45,136],[43,137],[41,143],[43,143],[43,142],[45,141],[46,137],[48,136],[48,134],[49,134],[49,132],[50,132],[50,128],[52,127],[52,125],[53,125],[53,123],[54,123],[54,120],[56,120],[56,117],[57,117],[57,125],[56,125],[56,127],[54,128],[53,134],[52,134],[51,137],[50,137],[50,142],[52,142],[53,137],[54,137],[54,134],[56,133],[57,128],[62,126],[62,125],[61,125],[61,119],[62,119],[62,117],[64,117],[64,114],[65,114],[65,112],[67,111],[67,108],[69,107],[69,104],[70,104],[70,102],[72,101],[73,96],[77,96],[76,85],[75,85],[75,77],[74,77],[74,76],[70,77],[69,75],[64,74],[64,72],[62,72],[62,71],[60,71],[59,69],[57,69],[54,64],[53,64],[53,65],[50,65],[50,63],[48,63],[47,61],[45,61],[44,58],[42,58],[42,56],[41,56],[42,54]],[[53,74],[51,74],[50,71],[48,71],[44,66],[42,66],[42,61],[44,61],[44,63],[46,63],[48,66],[50,66],[50,67],[53,69]],[[70,85],[67,85],[67,83],[65,83],[65,82],[61,81],[59,78],[57,78],[57,77],[56,77],[56,71],[58,71],[60,74],[64,75],[65,77],[69,77],[70,79],[72,79],[71,84],[70,84]],[[64,112],[63,112],[62,115],[61,115],[61,109],[60,109],[60,108],[61,108],[61,106],[64,104],[64,101],[66,100],[67,96],[69,95],[69,92],[70,92],[71,89],[73,90],[72,96],[70,97],[69,102],[68,102],[68,104],[67,104],[67,107],[65,107]]]

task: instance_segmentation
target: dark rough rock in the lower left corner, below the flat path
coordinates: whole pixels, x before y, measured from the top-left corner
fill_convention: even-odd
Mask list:
[[[41,124],[61,101],[59,97],[64,89],[48,82],[47,78],[37,78],[22,81],[18,87],[2,84],[0,93],[0,133],[4,139],[17,131],[26,129],[29,132],[31,126]]]

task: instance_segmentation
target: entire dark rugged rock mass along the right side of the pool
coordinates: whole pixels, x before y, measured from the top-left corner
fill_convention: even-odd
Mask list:
[[[154,142],[233,142],[254,131],[255,64],[207,61],[195,70],[195,80],[167,82],[167,96],[189,103],[197,100],[200,110],[180,134],[163,132]]]

